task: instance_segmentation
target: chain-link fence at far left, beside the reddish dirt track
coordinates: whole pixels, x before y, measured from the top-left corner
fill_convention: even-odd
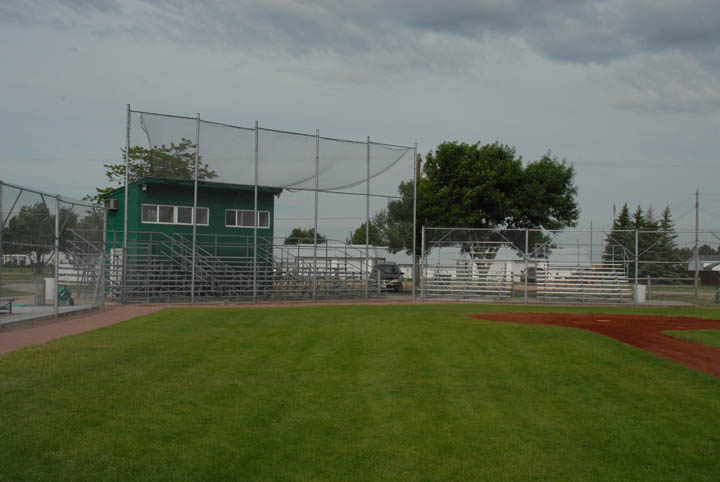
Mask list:
[[[4,320],[104,303],[103,216],[97,205],[0,180]]]

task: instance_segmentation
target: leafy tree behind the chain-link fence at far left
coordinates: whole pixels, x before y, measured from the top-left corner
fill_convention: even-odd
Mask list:
[[[77,213],[60,208],[60,249],[67,248],[69,230],[76,227]],[[55,250],[55,215],[43,202],[20,208],[3,229],[3,250],[7,254],[24,254],[30,258],[35,273],[45,271]]]

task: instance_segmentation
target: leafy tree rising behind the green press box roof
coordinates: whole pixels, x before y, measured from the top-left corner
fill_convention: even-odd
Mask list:
[[[123,158],[125,150],[122,151]],[[198,180],[214,179],[217,173],[198,157]],[[135,182],[144,177],[192,180],[195,178],[195,144],[182,138],[178,144],[170,143],[146,149],[141,146],[130,148],[128,156],[128,181]],[[105,164],[105,175],[110,186],[95,188],[94,196],[88,199],[101,202],[104,197],[125,183],[125,161]]]

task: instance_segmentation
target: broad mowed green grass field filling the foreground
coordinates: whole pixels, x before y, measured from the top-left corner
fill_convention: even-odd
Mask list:
[[[720,480],[720,379],[466,316],[518,309],[168,309],[9,353],[0,478]]]

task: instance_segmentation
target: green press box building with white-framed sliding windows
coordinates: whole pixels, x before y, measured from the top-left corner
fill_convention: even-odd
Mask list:
[[[282,189],[258,186],[257,191],[257,268],[267,271],[272,263],[275,197]],[[170,295],[173,289],[181,292],[186,288],[186,278],[192,272],[189,262],[193,255],[193,198],[192,180],[146,177],[128,186],[129,293],[134,290],[140,296],[138,290],[143,283],[146,290],[161,297],[165,291]],[[222,291],[227,288],[223,285],[238,285],[240,280],[247,284],[247,269],[255,261],[255,186],[200,181],[197,199],[196,288],[199,286],[208,295],[217,291],[215,294],[226,296],[228,293]],[[117,281],[122,276],[118,268],[124,256],[125,188],[110,193],[105,207],[112,285],[113,279]],[[167,279],[175,280],[175,285],[170,286],[172,283]]]

